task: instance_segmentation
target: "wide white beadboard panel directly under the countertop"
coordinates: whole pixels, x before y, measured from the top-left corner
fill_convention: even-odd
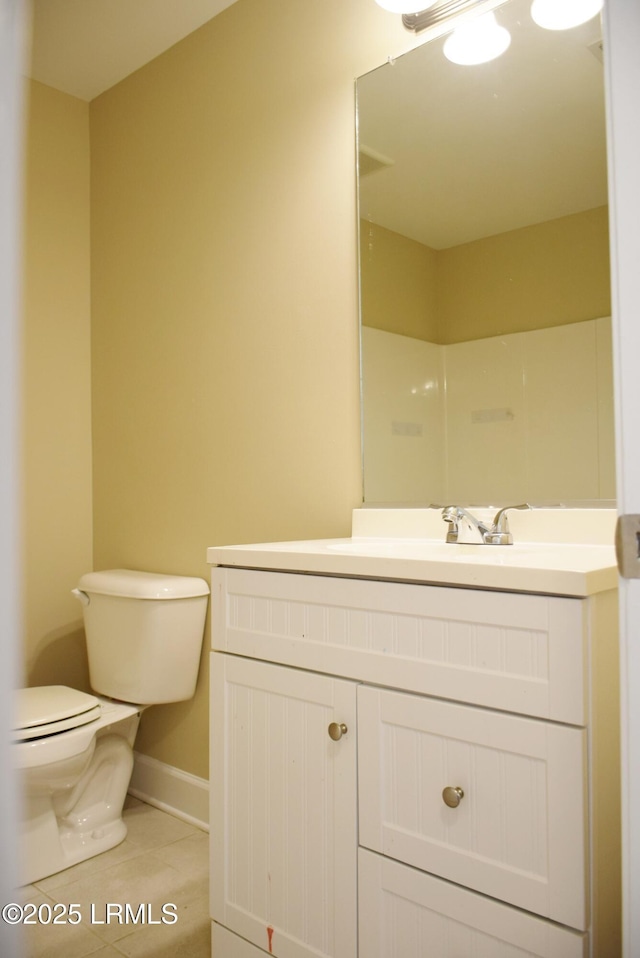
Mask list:
[[[579,599],[212,570],[213,648],[585,724]]]

